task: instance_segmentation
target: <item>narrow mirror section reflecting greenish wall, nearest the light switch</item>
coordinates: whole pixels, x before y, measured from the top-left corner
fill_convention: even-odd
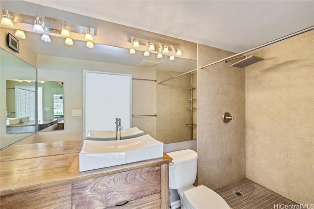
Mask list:
[[[38,81],[38,131],[64,130],[63,82]]]

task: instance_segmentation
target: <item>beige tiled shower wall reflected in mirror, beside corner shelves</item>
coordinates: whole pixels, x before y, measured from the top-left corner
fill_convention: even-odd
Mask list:
[[[157,80],[165,80],[182,74],[181,72],[157,70]],[[192,75],[187,74],[161,84],[156,84],[157,90],[157,121],[156,139],[163,143],[173,143],[193,139],[191,124],[193,113],[190,111]],[[195,93],[195,90],[192,90]],[[196,129],[195,129],[196,130]]]

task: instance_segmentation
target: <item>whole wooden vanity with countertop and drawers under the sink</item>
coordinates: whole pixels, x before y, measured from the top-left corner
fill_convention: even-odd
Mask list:
[[[0,208],[168,208],[171,157],[79,172],[80,148],[69,141],[0,150]]]

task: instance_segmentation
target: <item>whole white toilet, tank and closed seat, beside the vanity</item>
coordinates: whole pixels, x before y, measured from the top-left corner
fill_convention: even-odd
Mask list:
[[[178,191],[181,209],[230,209],[213,190],[204,185],[193,186],[197,171],[195,151],[180,150],[167,155],[173,158],[169,165],[169,188]]]

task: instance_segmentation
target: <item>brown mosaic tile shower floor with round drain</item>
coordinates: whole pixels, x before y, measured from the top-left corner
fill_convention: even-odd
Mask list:
[[[237,196],[239,191],[243,196]],[[283,197],[258,183],[242,179],[215,190],[232,209],[280,209],[297,203]]]

